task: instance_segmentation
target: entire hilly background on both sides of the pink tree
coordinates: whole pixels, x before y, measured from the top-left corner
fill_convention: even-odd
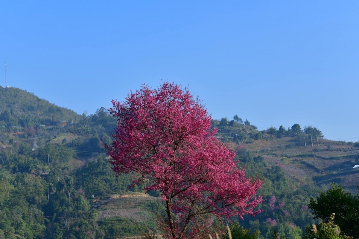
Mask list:
[[[0,87],[0,229],[25,238],[120,238],[155,230],[156,192],[116,177],[103,143],[116,121],[107,109],[78,115],[16,88]],[[314,126],[258,131],[237,115],[212,121],[237,151],[238,166],[260,177],[264,211],[239,221],[271,237],[300,238],[313,223],[310,197],[339,183],[356,192],[359,144],[323,139]],[[0,238],[15,238],[0,231]]]

